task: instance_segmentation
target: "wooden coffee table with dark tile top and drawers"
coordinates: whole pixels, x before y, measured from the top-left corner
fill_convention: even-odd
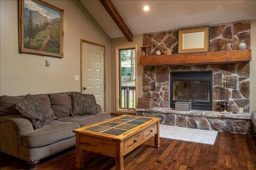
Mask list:
[[[76,133],[76,167],[84,168],[83,151],[115,158],[115,169],[123,169],[123,156],[155,135],[159,148],[160,118],[118,116],[73,130]]]

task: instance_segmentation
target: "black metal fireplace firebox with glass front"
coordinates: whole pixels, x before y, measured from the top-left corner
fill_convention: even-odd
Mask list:
[[[170,107],[191,101],[193,110],[212,111],[212,71],[171,71]]]

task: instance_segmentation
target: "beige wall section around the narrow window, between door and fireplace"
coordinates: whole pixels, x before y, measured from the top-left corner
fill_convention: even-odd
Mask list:
[[[136,35],[133,37],[133,42],[128,42],[125,37],[112,39],[111,41],[111,62],[112,62],[112,112],[115,111],[115,94],[116,94],[116,87],[115,87],[115,46],[121,46],[121,45],[136,45],[138,46],[138,52],[137,52],[137,69],[138,69],[138,97],[142,97],[143,91],[142,91],[142,74],[143,74],[143,66],[139,65],[139,57],[141,56],[141,46],[143,46],[142,42],[143,35]]]

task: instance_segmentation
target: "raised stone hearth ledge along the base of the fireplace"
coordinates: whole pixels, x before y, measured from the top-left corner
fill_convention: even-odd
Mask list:
[[[220,114],[213,111],[175,111],[170,108],[137,109],[138,116],[159,117],[160,124],[184,128],[254,134],[250,113]]]

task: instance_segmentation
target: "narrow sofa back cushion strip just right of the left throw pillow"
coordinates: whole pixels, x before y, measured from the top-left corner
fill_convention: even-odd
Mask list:
[[[53,110],[51,108],[51,101],[49,100],[49,97],[47,95],[41,95],[41,96],[34,96],[35,99],[38,101],[38,105],[40,109],[42,109],[43,114],[46,114],[47,122],[55,120],[57,118]]]

